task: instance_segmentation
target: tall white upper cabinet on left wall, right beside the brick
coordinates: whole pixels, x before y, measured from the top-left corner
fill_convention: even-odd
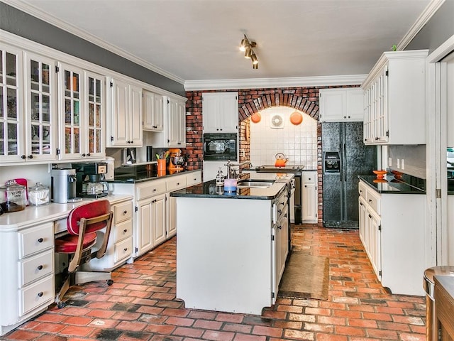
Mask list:
[[[153,147],[186,147],[186,101],[164,96],[164,129],[150,134]]]

